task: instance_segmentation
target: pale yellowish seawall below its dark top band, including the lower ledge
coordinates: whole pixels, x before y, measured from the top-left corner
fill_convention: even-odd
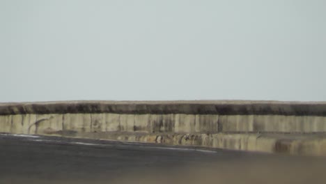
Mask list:
[[[299,136],[287,139],[288,135],[278,137],[263,134],[326,132],[325,116],[9,114],[0,115],[0,132],[206,146],[268,153],[326,155],[325,137],[301,139]]]

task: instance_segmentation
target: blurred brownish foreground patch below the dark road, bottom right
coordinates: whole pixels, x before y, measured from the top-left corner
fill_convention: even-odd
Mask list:
[[[170,171],[143,171],[116,178],[114,183],[326,183],[325,161],[257,160],[189,165]],[[101,183],[101,182],[99,182]],[[102,182],[104,183],[104,182]]]

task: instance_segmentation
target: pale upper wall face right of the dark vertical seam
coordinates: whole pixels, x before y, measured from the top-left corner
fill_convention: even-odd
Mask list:
[[[325,132],[326,116],[219,116],[219,132]]]

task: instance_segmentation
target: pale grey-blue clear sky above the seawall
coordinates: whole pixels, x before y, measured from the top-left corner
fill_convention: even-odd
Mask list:
[[[325,0],[0,0],[0,102],[326,100]]]

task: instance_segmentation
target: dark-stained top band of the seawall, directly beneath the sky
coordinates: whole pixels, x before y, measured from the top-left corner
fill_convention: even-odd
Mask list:
[[[173,101],[56,101],[0,103],[0,114],[278,114],[326,116],[326,102],[281,102],[253,100]]]

